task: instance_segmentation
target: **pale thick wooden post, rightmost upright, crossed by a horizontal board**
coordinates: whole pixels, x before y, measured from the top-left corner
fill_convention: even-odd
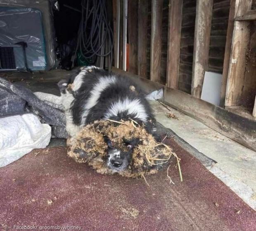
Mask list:
[[[250,9],[251,0],[236,0],[235,17],[241,16]],[[229,61],[225,106],[235,106],[241,103],[244,88],[246,54],[249,41],[249,22],[235,21]]]

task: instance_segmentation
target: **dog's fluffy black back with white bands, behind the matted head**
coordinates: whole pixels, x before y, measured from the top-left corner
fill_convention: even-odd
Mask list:
[[[145,93],[125,77],[100,68],[84,68],[73,80],[74,124],[83,126],[99,119],[134,119],[147,124],[152,120]]]

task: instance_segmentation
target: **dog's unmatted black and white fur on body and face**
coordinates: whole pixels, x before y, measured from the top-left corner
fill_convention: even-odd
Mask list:
[[[67,88],[72,84],[72,88]],[[143,124],[149,133],[155,128],[154,116],[146,94],[130,79],[94,66],[81,68],[69,81],[59,82],[62,105],[66,112],[66,130],[71,143],[80,128],[95,120],[115,121],[133,119]],[[130,152],[123,153],[108,144],[107,166],[113,171],[124,170],[138,140],[124,141]]]

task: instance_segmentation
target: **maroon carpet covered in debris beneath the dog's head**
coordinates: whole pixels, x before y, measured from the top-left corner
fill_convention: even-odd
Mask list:
[[[168,142],[182,159],[184,182],[173,163],[175,185],[165,170],[146,177],[150,187],[143,179],[99,175],[69,159],[65,148],[34,150],[0,168],[0,230],[73,225],[85,231],[255,231],[255,211]]]

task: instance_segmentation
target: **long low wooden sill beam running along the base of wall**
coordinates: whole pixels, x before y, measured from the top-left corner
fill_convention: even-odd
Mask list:
[[[142,86],[147,93],[164,89],[163,103],[201,121],[213,130],[235,140],[236,142],[256,151],[256,121],[234,114],[190,94],[167,86],[140,78],[129,72],[112,68],[113,72],[127,76]],[[198,110],[200,108],[200,110]]]

